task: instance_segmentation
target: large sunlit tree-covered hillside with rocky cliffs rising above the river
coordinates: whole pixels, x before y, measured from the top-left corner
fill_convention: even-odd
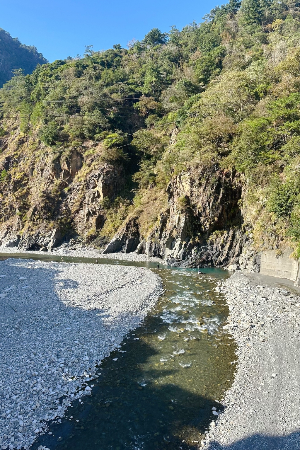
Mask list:
[[[47,249],[59,227],[103,247],[123,224],[110,250],[173,265],[300,256],[299,2],[230,0],[17,73],[0,99],[3,241]]]

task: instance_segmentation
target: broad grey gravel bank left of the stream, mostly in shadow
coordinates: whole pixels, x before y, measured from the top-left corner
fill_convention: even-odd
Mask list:
[[[1,261],[0,448],[28,448],[48,419],[90,395],[85,382],[114,348],[126,355],[122,338],[161,290],[144,268]]]

